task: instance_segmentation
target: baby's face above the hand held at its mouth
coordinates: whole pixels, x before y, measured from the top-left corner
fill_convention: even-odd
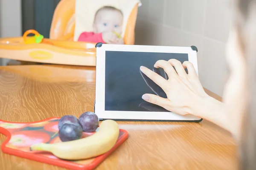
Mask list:
[[[94,33],[113,32],[118,34],[122,32],[122,14],[116,10],[102,10],[95,17],[93,23]]]

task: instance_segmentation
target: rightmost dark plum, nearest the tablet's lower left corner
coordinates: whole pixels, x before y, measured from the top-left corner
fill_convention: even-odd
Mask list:
[[[80,125],[83,128],[84,132],[95,132],[99,127],[99,118],[93,112],[85,112],[79,117]]]

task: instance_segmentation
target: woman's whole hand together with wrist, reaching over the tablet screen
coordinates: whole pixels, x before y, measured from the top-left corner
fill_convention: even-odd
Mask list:
[[[230,131],[226,105],[206,94],[191,62],[185,61],[181,64],[176,59],[158,60],[154,67],[163,68],[169,79],[166,80],[143,66],[140,70],[163,89],[167,99],[154,94],[144,94],[142,98],[145,101],[180,115],[192,114],[208,119]]]

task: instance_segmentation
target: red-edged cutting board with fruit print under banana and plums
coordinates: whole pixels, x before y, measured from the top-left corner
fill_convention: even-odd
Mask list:
[[[58,137],[59,117],[52,117],[38,122],[14,123],[0,119],[0,133],[7,139],[1,145],[3,153],[40,161],[72,170],[92,170],[104,161],[117,147],[128,138],[126,130],[120,129],[119,138],[114,147],[107,153],[92,159],[78,161],[67,161],[58,159],[52,153],[42,151],[30,151],[29,147],[35,143],[57,143],[61,142]],[[93,133],[84,133],[83,137]]]

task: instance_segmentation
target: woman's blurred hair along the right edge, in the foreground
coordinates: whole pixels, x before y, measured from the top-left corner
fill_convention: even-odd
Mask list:
[[[250,100],[239,141],[239,169],[256,170],[256,0],[235,0],[234,28],[247,60]]]

